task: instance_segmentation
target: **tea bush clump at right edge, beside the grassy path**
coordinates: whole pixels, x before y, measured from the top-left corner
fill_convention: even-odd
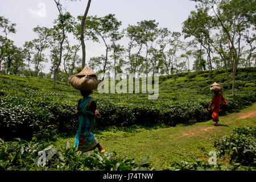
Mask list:
[[[220,157],[227,157],[230,163],[256,166],[256,128],[238,127],[229,136],[214,142]]]

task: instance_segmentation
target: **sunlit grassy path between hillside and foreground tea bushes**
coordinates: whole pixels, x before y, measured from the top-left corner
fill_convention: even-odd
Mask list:
[[[241,116],[247,118],[238,119]],[[220,126],[213,126],[212,121],[195,123],[189,126],[176,126],[158,129],[144,127],[110,128],[96,131],[96,137],[108,152],[118,152],[121,156],[141,160],[151,156],[154,167],[168,167],[171,162],[181,160],[208,160],[209,152],[214,151],[213,140],[229,134],[235,127],[256,126],[256,104],[220,117]],[[74,137],[62,137],[56,146],[65,140],[73,143]],[[217,162],[227,163],[225,160]]]

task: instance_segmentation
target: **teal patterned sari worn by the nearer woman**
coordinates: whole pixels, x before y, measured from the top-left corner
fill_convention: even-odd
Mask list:
[[[77,130],[74,146],[82,152],[92,150],[99,143],[91,131],[94,114],[88,109],[92,101],[92,97],[85,97],[79,102],[82,113],[79,115],[79,129]]]

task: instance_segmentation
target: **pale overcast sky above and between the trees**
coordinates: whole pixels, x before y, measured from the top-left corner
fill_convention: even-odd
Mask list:
[[[86,9],[87,0],[62,0],[61,3],[73,16],[82,15]],[[167,27],[170,31],[181,31],[182,23],[195,10],[195,2],[189,0],[92,0],[88,15],[105,16],[115,14],[122,21],[122,29],[128,24],[137,24],[141,20],[155,19],[159,27]],[[16,23],[16,34],[9,38],[15,45],[22,47],[24,42],[36,38],[32,28],[36,26],[52,27],[52,22],[58,15],[53,0],[0,0],[0,16]],[[75,42],[74,42],[75,43]],[[86,63],[90,57],[104,54],[104,44],[86,44]],[[79,53],[81,55],[81,51]],[[45,63],[44,72],[49,72]]]

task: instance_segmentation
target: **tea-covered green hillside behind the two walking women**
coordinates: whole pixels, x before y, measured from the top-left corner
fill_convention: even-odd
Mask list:
[[[159,77],[159,97],[148,100],[147,94],[100,94],[94,91],[101,116],[98,129],[107,126],[156,124],[175,126],[209,119],[205,113],[212,98],[209,85],[214,81],[224,86],[227,105],[221,115],[255,102],[256,68],[238,69],[236,96],[227,89],[226,73],[213,71],[181,73]],[[230,76],[230,80],[231,76]],[[1,138],[54,137],[56,133],[74,132],[77,127],[77,90],[63,82],[52,89],[52,80],[0,74]],[[8,136],[8,137],[7,137]]]

